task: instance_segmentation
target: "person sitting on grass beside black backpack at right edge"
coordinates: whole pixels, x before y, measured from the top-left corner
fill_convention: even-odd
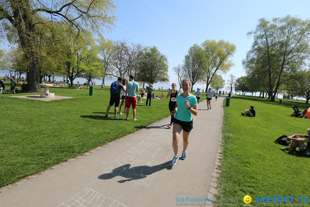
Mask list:
[[[300,138],[301,137],[301,138]],[[305,138],[305,139],[302,139]],[[299,151],[303,153],[303,155],[310,155],[307,146],[304,144],[304,142],[310,142],[310,128],[307,129],[307,134],[293,134],[290,137],[286,138],[287,141],[291,140],[292,143],[289,147],[281,148],[282,150],[288,150],[288,151],[295,151],[296,147],[298,146]],[[308,144],[307,144],[308,145]]]

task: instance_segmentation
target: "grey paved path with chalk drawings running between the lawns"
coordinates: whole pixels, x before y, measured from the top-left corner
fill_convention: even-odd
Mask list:
[[[170,117],[0,193],[1,207],[201,206],[218,146],[223,99],[198,104],[187,159],[173,158]],[[152,107],[152,106],[151,106]],[[168,105],[167,105],[168,109]],[[139,117],[139,111],[137,111]],[[181,134],[182,137],[182,134]],[[179,156],[183,140],[179,142]],[[180,201],[178,201],[178,199]]]

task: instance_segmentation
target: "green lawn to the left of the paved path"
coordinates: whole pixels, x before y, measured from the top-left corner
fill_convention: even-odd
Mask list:
[[[7,81],[7,90],[9,84]],[[101,91],[101,86],[95,86],[94,96],[89,96],[87,90],[71,88],[50,88],[50,92],[76,98],[39,101],[8,97],[12,94],[0,95],[0,187],[170,116],[169,99],[152,100],[151,107],[145,106],[146,99],[143,99],[144,103],[137,106],[138,121],[132,121],[132,109],[131,121],[125,121],[125,114],[113,118],[114,106],[109,111],[112,118],[104,117],[110,98],[109,87]],[[165,90],[156,90],[156,95],[162,92],[167,94]],[[31,94],[35,93],[16,95]]]

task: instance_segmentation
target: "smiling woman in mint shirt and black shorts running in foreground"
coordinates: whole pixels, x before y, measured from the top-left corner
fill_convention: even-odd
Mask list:
[[[198,114],[198,106],[196,97],[190,93],[192,83],[189,79],[183,79],[182,89],[183,93],[179,93],[176,96],[175,110],[171,111],[171,115],[174,115],[173,119],[173,132],[172,132],[172,147],[174,151],[174,157],[171,160],[171,164],[175,165],[179,159],[179,138],[180,133],[183,130],[183,151],[181,160],[186,159],[186,149],[189,143],[189,133],[193,128],[193,115]]]

